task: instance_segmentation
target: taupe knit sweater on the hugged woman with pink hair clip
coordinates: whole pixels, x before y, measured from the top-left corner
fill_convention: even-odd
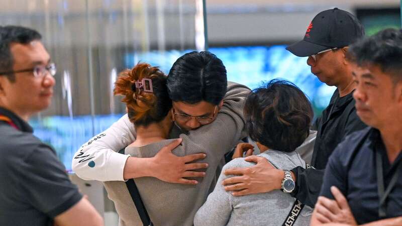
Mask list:
[[[246,136],[243,130],[243,105],[249,92],[250,90],[243,85],[229,83],[224,105],[217,119],[209,125],[180,135],[183,141],[181,146],[173,150],[175,155],[207,154],[201,162],[207,162],[209,167],[204,178],[197,178],[197,185],[172,184],[152,177],[135,179],[154,225],[192,225],[195,212],[215,187],[217,171],[220,172],[224,165],[224,154],[229,152],[240,138]],[[177,128],[172,133],[177,133]],[[127,147],[125,154],[133,157],[153,157],[171,141],[165,140],[142,147]],[[105,182],[105,187],[109,198],[115,202],[120,216],[119,225],[142,225],[125,182],[109,181]]]

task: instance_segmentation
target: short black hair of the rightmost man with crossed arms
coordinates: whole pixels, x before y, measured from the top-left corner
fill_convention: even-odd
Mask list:
[[[394,81],[402,81],[402,30],[388,28],[350,46],[348,59],[359,66],[377,65]]]

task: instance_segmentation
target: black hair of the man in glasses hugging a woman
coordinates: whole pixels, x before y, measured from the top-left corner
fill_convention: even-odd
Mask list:
[[[218,105],[227,91],[226,68],[215,54],[190,52],[174,62],[167,76],[167,89],[173,101]]]

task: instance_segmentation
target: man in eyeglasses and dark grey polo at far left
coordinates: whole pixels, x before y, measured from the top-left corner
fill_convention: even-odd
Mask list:
[[[28,124],[49,106],[55,84],[40,39],[32,29],[0,27],[0,225],[103,225]]]

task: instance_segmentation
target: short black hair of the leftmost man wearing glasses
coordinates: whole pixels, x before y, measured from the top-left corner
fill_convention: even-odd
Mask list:
[[[1,72],[12,71],[14,58],[11,54],[10,45],[12,43],[28,44],[34,40],[41,40],[39,32],[21,26],[0,26],[0,75]],[[7,76],[11,81],[15,81],[14,74]]]

